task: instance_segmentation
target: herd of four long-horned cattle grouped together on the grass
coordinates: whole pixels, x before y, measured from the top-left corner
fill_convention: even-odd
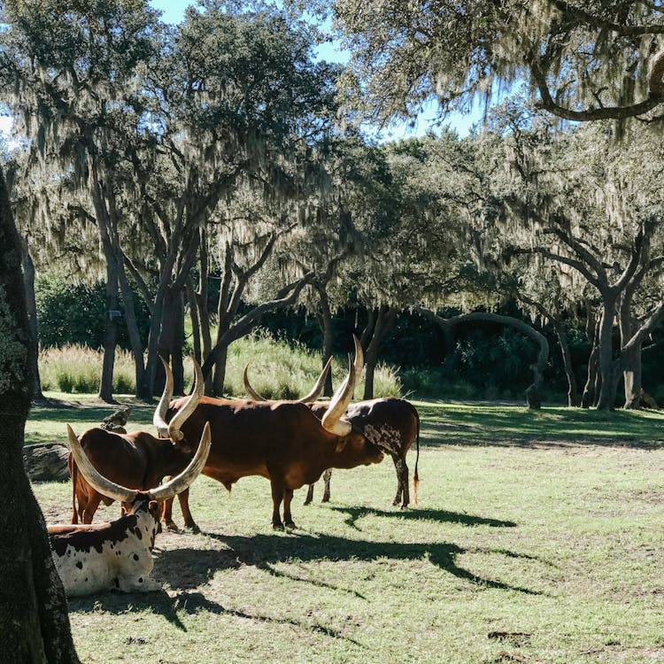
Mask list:
[[[155,590],[158,585],[147,578],[155,536],[162,522],[177,529],[172,516],[175,496],[184,525],[198,530],[189,510],[189,484],[200,473],[227,490],[241,477],[266,477],[272,489],[273,528],[295,529],[290,512],[294,490],[308,484],[308,504],[313,483],[325,473],[323,500],[328,500],[331,468],[379,463],[390,454],[398,478],[394,505],[408,506],[405,455],[417,441],[419,458],[420,419],[403,399],[351,404],[363,364],[355,339],[355,359],[349,361],[344,382],[328,403],[316,404],[329,363],[305,398],[269,401],[251,388],[246,369],[244,384],[251,400],[205,397],[195,360],[191,395],[172,400],[173,375],[164,362],[166,386],[153,417],[158,436],[95,428],[77,438],[68,427],[72,524],[49,526],[53,558],[66,593]],[[162,483],[165,477],[169,479]],[[415,504],[418,481],[416,461]],[[92,524],[99,504],[110,505],[113,500],[122,505],[120,519]]]

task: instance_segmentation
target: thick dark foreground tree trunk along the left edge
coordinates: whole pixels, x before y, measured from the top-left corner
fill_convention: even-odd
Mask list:
[[[35,346],[27,322],[19,235],[0,170],[0,468],[4,509],[0,516],[0,634],[6,661],[78,664],[65,590],[50,555],[43,515],[30,489],[21,453],[34,391]]]

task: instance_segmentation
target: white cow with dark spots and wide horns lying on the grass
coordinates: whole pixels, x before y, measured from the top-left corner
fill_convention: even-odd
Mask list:
[[[210,452],[210,427],[205,425],[189,466],[166,484],[149,491],[129,489],[100,475],[68,425],[67,430],[81,475],[102,495],[120,500],[127,513],[110,523],[48,527],[53,560],[66,594],[158,590],[160,584],[148,578],[154,564],[152,547],[159,528],[158,501],[172,498],[200,474]]]

